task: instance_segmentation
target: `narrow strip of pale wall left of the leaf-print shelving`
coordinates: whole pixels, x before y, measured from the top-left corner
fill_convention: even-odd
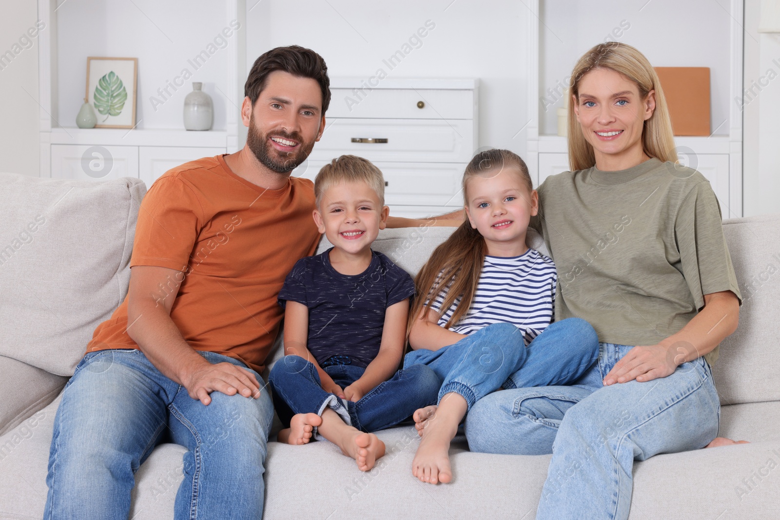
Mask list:
[[[0,172],[37,176],[38,41],[27,35],[37,4],[3,0],[0,10],[0,55],[14,54],[0,62]]]

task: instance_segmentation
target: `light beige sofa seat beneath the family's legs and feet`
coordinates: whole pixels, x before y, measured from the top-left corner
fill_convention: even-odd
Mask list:
[[[59,401],[0,436],[0,518],[43,516]],[[724,407],[721,424],[721,433],[745,431],[739,428],[750,424],[755,431],[745,437],[761,442],[636,462],[629,520],[771,518],[768,511],[775,511],[780,495],[780,479],[773,478],[780,471],[775,468],[780,465],[780,404]],[[729,430],[729,424],[735,429]],[[462,443],[453,444],[454,481],[431,486],[411,474],[420,442],[412,426],[383,430],[378,436],[388,453],[365,473],[327,441],[306,446],[269,443],[264,520],[300,518],[302,501],[308,518],[534,518],[549,455],[470,453]],[[161,444],[141,465],[131,518],[173,518],[183,453],[181,446]],[[301,490],[306,490],[305,497]],[[691,493],[697,500],[691,500]]]

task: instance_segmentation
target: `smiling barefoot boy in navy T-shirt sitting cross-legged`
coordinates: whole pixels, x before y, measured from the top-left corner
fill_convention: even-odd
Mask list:
[[[269,382],[290,426],[278,440],[306,444],[319,433],[368,471],[385,455],[385,444],[369,432],[433,404],[441,380],[427,366],[396,372],[414,282],[371,250],[389,212],[382,173],[366,159],[342,155],[317,174],[314,193],[314,222],[333,247],[299,260],[279,292],[285,357]]]

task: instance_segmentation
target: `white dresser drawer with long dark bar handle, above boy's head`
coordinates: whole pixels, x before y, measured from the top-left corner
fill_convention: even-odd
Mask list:
[[[326,119],[326,122],[328,126],[322,139],[311,153],[313,160],[329,161],[342,154],[354,154],[370,161],[467,163],[475,148],[470,120]]]

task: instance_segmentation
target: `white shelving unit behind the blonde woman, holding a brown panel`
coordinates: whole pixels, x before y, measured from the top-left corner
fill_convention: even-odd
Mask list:
[[[723,218],[742,216],[743,122],[734,100],[743,89],[743,0],[714,1],[722,9],[710,0],[683,4],[673,0],[527,2],[534,13],[527,26],[527,162],[536,185],[549,175],[569,170],[566,137],[552,135],[555,108],[565,106],[555,88],[565,83],[585,51],[610,37],[638,48],[655,66],[711,68],[712,135],[675,136],[675,143],[680,161],[711,182]],[[681,12],[686,9],[697,15],[686,16]],[[565,17],[556,16],[564,10]],[[669,16],[670,12],[675,16]],[[693,19],[697,23],[692,24]]]

